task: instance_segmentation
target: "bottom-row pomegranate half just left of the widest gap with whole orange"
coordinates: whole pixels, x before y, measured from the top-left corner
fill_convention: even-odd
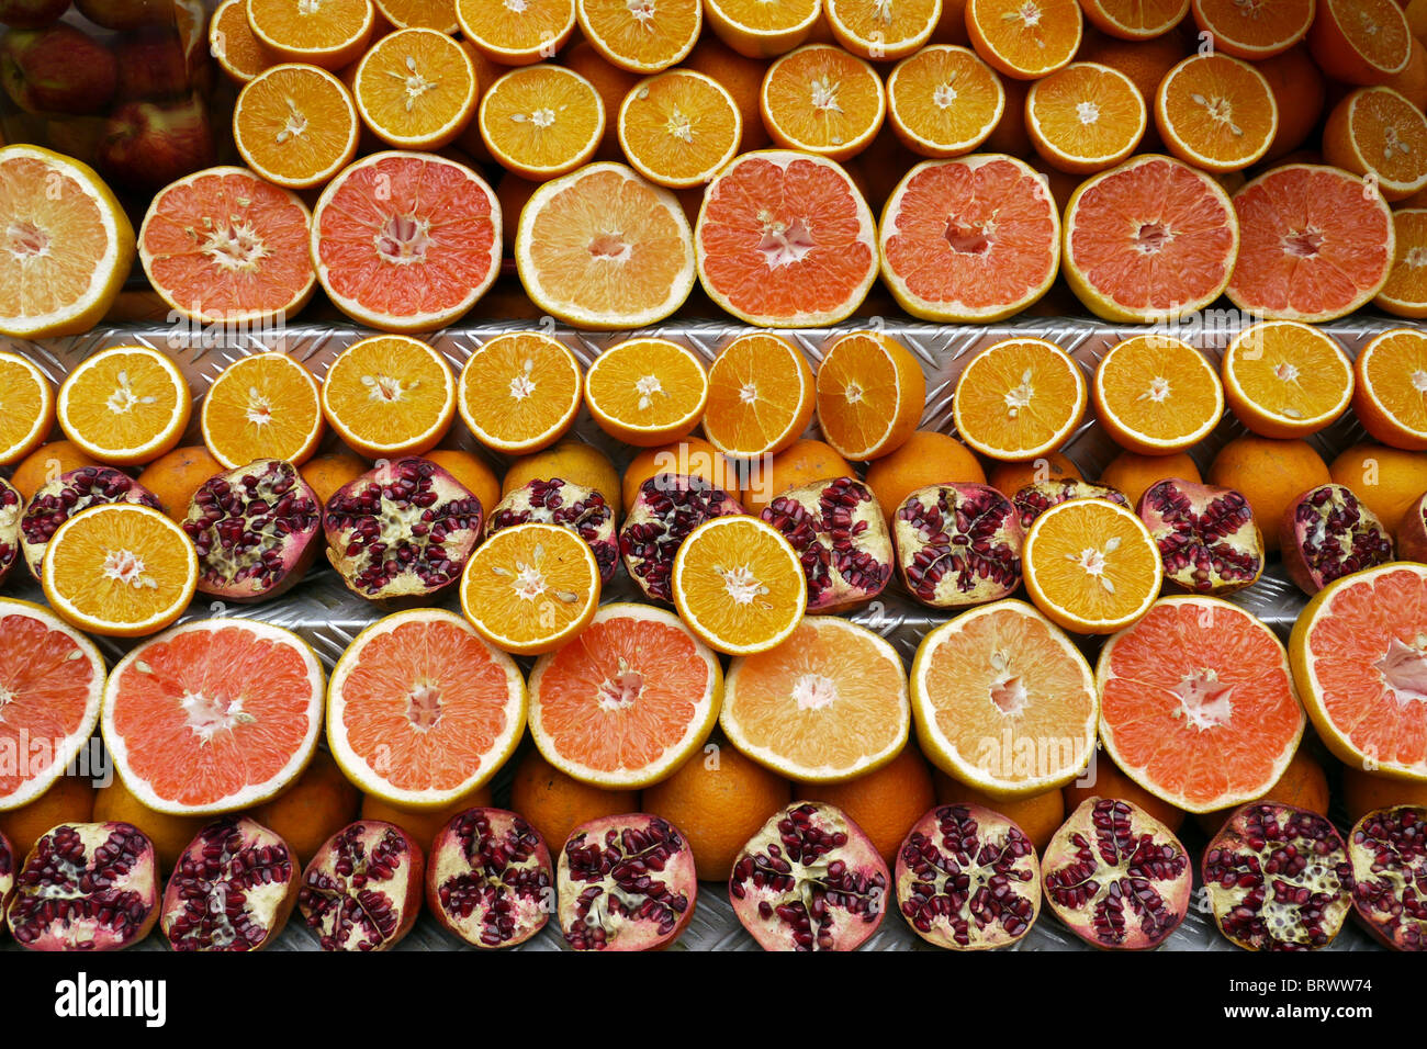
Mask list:
[[[662,816],[577,826],[559,852],[559,928],[575,951],[655,951],[679,938],[698,899],[694,849]]]

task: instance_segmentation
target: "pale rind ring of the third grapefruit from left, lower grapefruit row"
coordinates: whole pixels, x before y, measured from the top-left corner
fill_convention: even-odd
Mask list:
[[[372,768],[365,756],[352,749],[342,719],[347,709],[342,686],[351,676],[352,668],[360,664],[362,649],[375,638],[385,637],[411,622],[442,622],[469,634],[474,641],[485,647],[491,662],[505,671],[505,729],[497,736],[489,752],[482,755],[481,766],[459,785],[450,789],[410,791],[392,785],[378,769]],[[442,809],[485,786],[501,771],[501,766],[515,754],[515,749],[521,744],[521,736],[525,734],[528,706],[525,679],[521,676],[519,667],[515,665],[515,661],[509,655],[481,638],[479,631],[455,612],[441,608],[414,608],[405,612],[395,612],[370,625],[352,639],[337,661],[337,665],[332,668],[331,681],[327,684],[327,746],[345,776],[362,794],[405,809]]]

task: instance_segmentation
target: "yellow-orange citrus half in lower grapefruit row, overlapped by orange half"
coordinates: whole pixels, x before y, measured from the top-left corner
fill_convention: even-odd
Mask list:
[[[882,768],[912,724],[906,668],[882,637],[805,617],[778,648],[729,664],[719,726],[741,754],[805,784]]]

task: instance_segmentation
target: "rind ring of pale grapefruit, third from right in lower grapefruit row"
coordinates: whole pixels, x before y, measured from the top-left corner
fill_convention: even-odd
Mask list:
[[[966,627],[976,622],[987,615],[1020,615],[1026,619],[1027,627],[1032,629],[1040,629],[1045,637],[1055,641],[1060,651],[1065,654],[1066,662],[1073,665],[1080,674],[1082,686],[1085,691],[1085,699],[1089,709],[1086,716],[1083,732],[1079,739],[1070,742],[1070,754],[1075,755],[1075,748],[1080,748],[1079,761],[1070,761],[1065,768],[1057,769],[1052,774],[1042,774],[1035,776],[1027,776],[1019,781],[1013,781],[1005,776],[989,775],[983,771],[975,759],[969,759],[962,755],[950,739],[938,726],[938,711],[939,706],[930,696],[930,689],[928,686],[928,674],[932,667],[932,659],[936,649],[946,644],[952,637],[962,634]],[[1076,648],[1075,641],[1056,624],[1053,624],[1045,614],[1042,614],[1035,607],[1026,604],[1025,601],[1017,601],[1007,598],[1003,601],[993,601],[977,608],[972,608],[960,615],[938,625],[935,629],[922,638],[922,644],[918,645],[916,655],[912,659],[912,715],[916,725],[916,738],[922,746],[922,752],[936,765],[942,772],[952,776],[953,779],[966,784],[983,794],[993,798],[1026,798],[1030,795],[1042,794],[1045,791],[1059,789],[1066,784],[1075,781],[1076,776],[1085,771],[1090,761],[1090,755],[1095,752],[1095,728],[1100,716],[1100,699],[1095,688],[1095,674],[1090,671],[1090,664],[1086,662],[1085,655]],[[1005,758],[1006,751],[1010,752],[1012,768],[1016,764],[1016,752],[1020,749],[1017,742],[1012,742],[1010,736],[1010,722],[1007,719],[1007,728],[1002,739],[983,741],[992,744],[990,752],[997,756]],[[1022,736],[1020,742],[1029,739]],[[1036,741],[1032,741],[1036,742]],[[1049,744],[1050,741],[1039,741],[1042,744]],[[1063,752],[1063,751],[1062,751]]]

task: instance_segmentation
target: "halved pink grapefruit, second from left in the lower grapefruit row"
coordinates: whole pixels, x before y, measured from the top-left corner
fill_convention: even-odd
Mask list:
[[[131,649],[108,675],[104,746],[146,808],[235,812],[307,768],[324,685],[317,655],[291,631],[250,619],[186,622]]]

